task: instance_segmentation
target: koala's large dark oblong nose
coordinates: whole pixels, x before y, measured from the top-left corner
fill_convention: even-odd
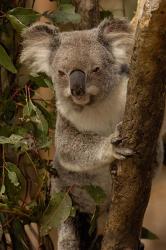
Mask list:
[[[73,96],[85,95],[85,73],[73,70],[70,74],[70,90]]]

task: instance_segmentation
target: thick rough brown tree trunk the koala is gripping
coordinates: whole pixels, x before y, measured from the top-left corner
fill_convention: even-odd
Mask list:
[[[144,0],[143,0],[144,1]],[[165,104],[166,1],[146,0],[136,31],[122,145],[135,155],[117,163],[102,250],[139,249],[148,204],[153,154]]]

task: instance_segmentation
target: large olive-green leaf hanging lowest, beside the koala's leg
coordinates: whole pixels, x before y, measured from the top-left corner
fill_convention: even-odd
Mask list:
[[[41,234],[48,234],[52,228],[57,228],[69,216],[72,208],[72,201],[67,193],[55,193],[40,220]]]

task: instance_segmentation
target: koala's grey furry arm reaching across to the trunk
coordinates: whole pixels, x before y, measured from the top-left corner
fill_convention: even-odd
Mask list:
[[[81,133],[58,115],[56,126],[56,157],[71,171],[86,171],[111,163],[115,158],[111,136]]]

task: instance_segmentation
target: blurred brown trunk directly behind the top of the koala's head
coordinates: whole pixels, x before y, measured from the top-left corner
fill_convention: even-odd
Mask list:
[[[81,15],[79,29],[91,29],[98,25],[100,21],[98,0],[73,0],[76,12]]]

